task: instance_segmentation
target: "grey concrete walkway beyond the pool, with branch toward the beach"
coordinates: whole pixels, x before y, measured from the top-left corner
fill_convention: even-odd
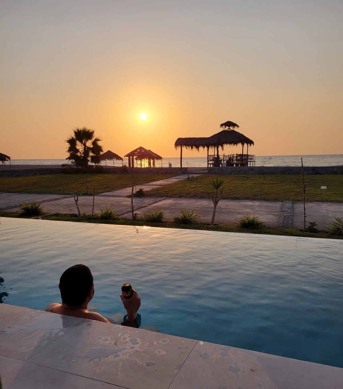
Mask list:
[[[190,174],[197,176],[199,174]],[[149,184],[137,186],[137,190],[143,188],[145,191],[161,185],[171,184],[179,180],[185,180],[187,175],[179,175],[170,179],[158,180]],[[131,218],[131,199],[127,197],[131,194],[131,187],[101,193],[95,196],[94,213],[99,212],[99,207],[113,207],[121,216]],[[87,214],[92,213],[92,196],[79,196],[79,209]],[[11,212],[17,212],[19,205],[23,202],[42,202],[42,207],[46,213],[62,212],[77,213],[74,196],[70,195],[44,195],[27,193],[0,193],[0,208]],[[144,213],[155,212],[163,209],[167,219],[179,214],[180,209],[188,211],[196,210],[200,215],[200,221],[209,223],[213,213],[213,203],[211,199],[199,198],[161,198],[161,197],[141,197],[134,198],[135,212],[138,217]],[[292,221],[290,225],[296,228],[303,228],[303,204],[293,204]],[[250,200],[221,200],[216,210],[216,224],[235,224],[242,216],[259,216],[266,226],[280,226],[282,220],[283,202],[271,201],[250,201]],[[343,217],[343,203],[307,203],[306,221],[316,222],[319,230],[326,230],[331,226],[334,217]]]

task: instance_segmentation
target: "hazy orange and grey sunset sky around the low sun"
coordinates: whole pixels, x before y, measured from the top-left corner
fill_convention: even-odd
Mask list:
[[[173,157],[231,120],[256,155],[342,154],[342,18],[341,0],[1,0],[0,152],[65,158],[86,126]]]

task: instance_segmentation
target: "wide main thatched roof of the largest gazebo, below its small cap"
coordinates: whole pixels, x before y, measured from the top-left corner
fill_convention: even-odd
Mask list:
[[[251,146],[254,142],[236,130],[222,130],[207,138],[178,138],[174,146],[176,149],[182,146],[188,150],[195,149],[199,151],[200,148],[206,149],[218,146],[223,149],[226,145],[237,146],[243,144]]]

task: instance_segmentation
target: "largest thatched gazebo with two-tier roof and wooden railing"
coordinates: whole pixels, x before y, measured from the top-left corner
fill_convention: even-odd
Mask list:
[[[249,156],[248,147],[249,145],[253,145],[254,142],[241,134],[240,132],[234,130],[234,128],[239,128],[239,125],[232,122],[227,121],[225,123],[220,124],[220,128],[224,128],[224,130],[212,135],[211,137],[195,137],[195,138],[178,138],[174,144],[176,149],[180,148],[180,166],[182,167],[182,148],[188,150],[197,150],[200,148],[207,149],[207,166],[248,166],[255,163],[255,157]],[[244,154],[244,145],[247,145],[246,154]],[[242,145],[242,154],[228,154],[220,158],[219,156],[219,148],[222,150],[226,145],[229,146],[237,146]],[[209,155],[209,149],[213,149],[213,152],[216,151],[216,155]],[[225,162],[224,162],[225,161]]]

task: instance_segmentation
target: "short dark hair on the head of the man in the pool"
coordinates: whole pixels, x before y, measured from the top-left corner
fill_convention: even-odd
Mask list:
[[[60,291],[62,302],[69,307],[81,305],[93,287],[93,275],[90,268],[80,263],[74,265],[61,275]]]

